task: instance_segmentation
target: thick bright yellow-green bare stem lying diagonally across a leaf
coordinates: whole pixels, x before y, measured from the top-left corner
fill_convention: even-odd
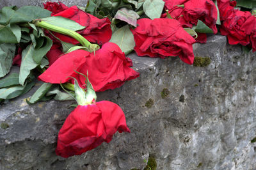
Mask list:
[[[49,29],[56,33],[61,33],[63,35],[71,36],[72,38],[75,38],[78,42],[80,42],[81,45],[83,45],[84,47],[87,47],[88,49],[90,49],[90,45],[92,45],[92,43],[88,42],[88,40],[86,40],[83,36],[79,35],[79,33],[76,33],[76,31],[65,29],[65,28],[59,27],[59,26],[54,26],[54,25],[49,24],[43,20],[34,20],[33,24],[35,24],[35,26],[38,26],[38,27],[43,27],[45,29]]]

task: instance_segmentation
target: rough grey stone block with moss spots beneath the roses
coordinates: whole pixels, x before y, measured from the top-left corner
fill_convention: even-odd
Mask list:
[[[54,153],[74,101],[26,104],[37,86],[1,105],[0,124],[9,127],[0,128],[0,169],[143,169],[149,155],[157,169],[256,169],[256,54],[220,35],[196,43],[194,53],[211,64],[129,55],[140,77],[97,95],[122,107],[131,133],[83,155]],[[170,91],[164,98],[163,89]]]

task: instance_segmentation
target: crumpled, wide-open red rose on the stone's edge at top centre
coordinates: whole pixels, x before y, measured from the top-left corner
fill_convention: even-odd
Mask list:
[[[179,56],[191,65],[194,61],[193,47],[195,39],[174,19],[140,19],[138,27],[131,29],[134,35],[134,50],[138,56],[166,58]]]

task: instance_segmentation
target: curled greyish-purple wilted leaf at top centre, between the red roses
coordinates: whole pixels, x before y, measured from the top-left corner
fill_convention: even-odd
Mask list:
[[[121,8],[116,12],[116,15],[114,18],[123,20],[128,24],[131,24],[132,26],[137,27],[137,19],[140,18],[140,15],[138,15],[133,10],[128,10],[127,8]]]

